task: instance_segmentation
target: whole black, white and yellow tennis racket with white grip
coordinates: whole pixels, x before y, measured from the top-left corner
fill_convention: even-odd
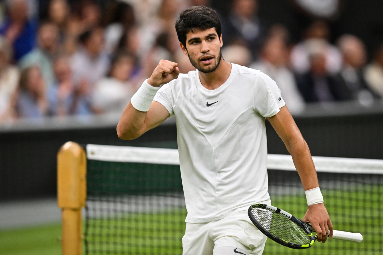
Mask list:
[[[314,228],[277,207],[267,204],[253,204],[247,211],[250,220],[262,233],[278,244],[304,249],[313,246],[317,235],[313,235]],[[332,238],[349,240],[360,243],[363,237],[360,233],[333,230]]]

